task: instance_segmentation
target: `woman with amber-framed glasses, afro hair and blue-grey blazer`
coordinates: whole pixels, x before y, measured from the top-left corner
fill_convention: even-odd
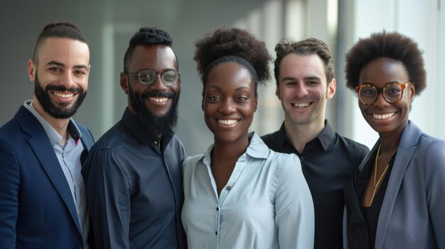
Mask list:
[[[360,39],[345,74],[379,133],[345,187],[350,248],[445,248],[445,141],[409,121],[414,96],[426,87],[417,43],[385,31]]]

